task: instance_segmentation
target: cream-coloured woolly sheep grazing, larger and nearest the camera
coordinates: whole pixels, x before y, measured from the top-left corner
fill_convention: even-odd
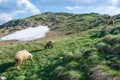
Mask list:
[[[27,50],[18,51],[15,54],[14,59],[17,64],[17,69],[19,69],[19,66],[23,63],[23,61],[27,59],[32,59],[32,54],[29,53]]]

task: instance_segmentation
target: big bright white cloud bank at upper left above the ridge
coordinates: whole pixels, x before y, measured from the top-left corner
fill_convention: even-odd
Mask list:
[[[38,13],[40,10],[29,0],[0,0],[0,22]]]

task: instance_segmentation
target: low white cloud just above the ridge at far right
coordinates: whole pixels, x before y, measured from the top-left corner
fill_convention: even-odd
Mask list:
[[[81,11],[81,12],[79,12]],[[120,13],[120,8],[115,6],[99,6],[99,7],[80,7],[75,12],[78,13],[100,13],[100,14],[109,14],[116,15]]]

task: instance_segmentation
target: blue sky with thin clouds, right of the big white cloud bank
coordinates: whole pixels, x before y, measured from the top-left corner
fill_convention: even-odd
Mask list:
[[[120,13],[120,0],[38,0],[42,11],[72,12],[115,15]]]

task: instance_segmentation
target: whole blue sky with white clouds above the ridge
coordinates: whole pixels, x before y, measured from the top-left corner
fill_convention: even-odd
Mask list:
[[[48,11],[117,15],[120,0],[0,0],[0,24]]]

